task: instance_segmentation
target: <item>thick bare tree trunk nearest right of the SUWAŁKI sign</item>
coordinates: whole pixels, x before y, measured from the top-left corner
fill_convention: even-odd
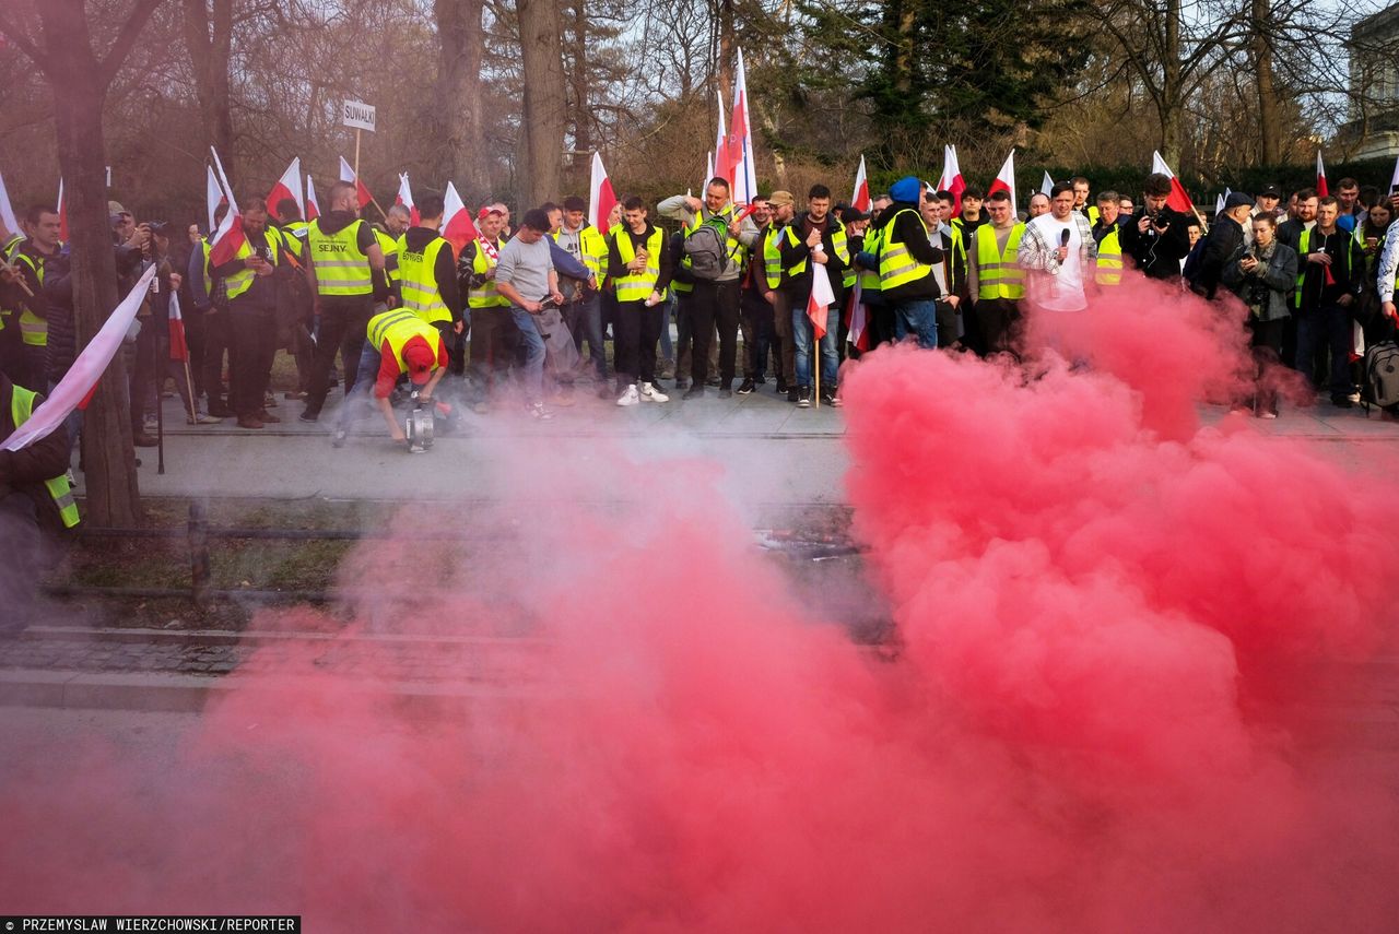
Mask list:
[[[481,151],[483,0],[434,0],[442,77],[438,82],[448,175],[460,180],[467,197],[488,197],[490,178]]]

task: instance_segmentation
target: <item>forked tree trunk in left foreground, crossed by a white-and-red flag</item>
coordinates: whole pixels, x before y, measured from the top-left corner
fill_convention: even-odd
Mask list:
[[[43,39],[21,48],[49,78],[73,250],[73,306],[78,350],[116,306],[116,264],[106,215],[106,144],[102,105],[116,70],[159,0],[136,0],[106,56],[98,57],[83,0],[36,6]],[[132,526],[141,499],[132,447],[126,366],[118,354],[102,373],[83,422],[88,517],[99,526]]]

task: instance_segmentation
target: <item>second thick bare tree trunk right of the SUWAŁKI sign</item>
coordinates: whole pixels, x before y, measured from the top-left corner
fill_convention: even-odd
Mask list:
[[[516,179],[522,207],[558,193],[564,159],[564,63],[560,56],[558,0],[520,0],[520,53],[525,112]]]

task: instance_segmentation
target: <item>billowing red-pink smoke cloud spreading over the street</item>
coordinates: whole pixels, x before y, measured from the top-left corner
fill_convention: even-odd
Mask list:
[[[508,691],[406,716],[367,678],[388,656],[322,668],[339,645],[284,692],[235,675],[169,768],[70,751],[13,777],[0,902],[329,931],[1391,930],[1392,789],[1284,713],[1392,629],[1399,498],[1193,426],[1179,357],[1233,372],[1223,330],[1163,324],[1123,382],[1104,361],[1136,351],[1093,324],[1094,371],[893,350],[851,373],[886,652],[748,544],[712,464],[502,452],[522,489],[607,505],[522,499],[473,513],[485,547],[445,570],[367,544],[346,576],[383,594],[367,629],[540,636],[453,661]]]

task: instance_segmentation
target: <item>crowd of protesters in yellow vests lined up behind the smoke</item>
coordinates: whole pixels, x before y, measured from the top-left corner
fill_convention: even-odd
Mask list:
[[[800,408],[839,405],[845,359],[904,340],[1017,354],[1028,309],[1081,310],[1128,275],[1237,296],[1259,372],[1294,368],[1350,407],[1358,354],[1393,337],[1399,238],[1388,231],[1399,194],[1354,179],[1337,189],[1286,203],[1273,186],[1235,193],[1206,222],[1171,207],[1165,175],[1146,178],[1139,207],[1074,178],[1037,193],[1024,215],[1004,190],[935,192],[911,176],[867,213],[821,185],[800,203],[778,190],[734,206],[716,178],[702,197],[669,197],[655,211],[625,197],[603,229],[586,222],[579,197],[533,207],[518,225],[505,204],[487,204],[457,249],[442,235],[442,197],[422,197],[417,220],[395,206],[371,224],[341,182],[313,221],[291,199],[274,217],[257,199],[239,206],[245,242],[217,264],[196,225],[139,220],[111,201],[123,292],[157,267],[125,345],[132,433],[137,446],[155,443],[168,386],[190,425],[235,419],[256,431],[284,417],[315,422],[334,389],[348,397],[362,383],[395,438],[382,400],[406,383],[457,408],[520,404],[540,419],[576,404],[581,386],[620,407],[769,385]],[[70,263],[49,206],[31,208],[22,228],[0,231],[0,372],[43,393],[74,359]],[[824,322],[809,315],[816,277],[834,298]],[[172,352],[172,313],[187,354]],[[270,390],[278,352],[295,365],[281,400]],[[1247,401],[1274,417],[1276,397],[1259,386]],[[304,407],[287,415],[283,400]]]

